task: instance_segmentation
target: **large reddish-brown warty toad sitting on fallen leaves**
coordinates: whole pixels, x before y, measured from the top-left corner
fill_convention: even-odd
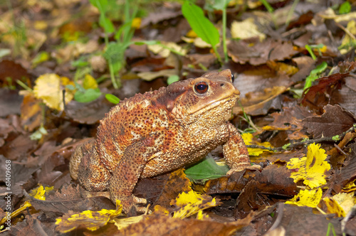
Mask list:
[[[89,191],[110,191],[112,202],[134,215],[146,203],[132,195],[138,178],[196,163],[219,145],[229,173],[241,171],[250,166],[248,152],[226,121],[239,94],[223,70],[125,99],[100,121],[91,149],[75,152],[70,174]]]

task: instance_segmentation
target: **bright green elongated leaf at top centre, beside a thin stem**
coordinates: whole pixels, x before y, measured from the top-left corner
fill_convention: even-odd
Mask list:
[[[197,33],[203,41],[209,43],[211,46],[216,46],[219,43],[219,31],[215,28],[213,23],[204,16],[203,10],[189,1],[184,1],[182,6],[182,14],[193,31]]]

